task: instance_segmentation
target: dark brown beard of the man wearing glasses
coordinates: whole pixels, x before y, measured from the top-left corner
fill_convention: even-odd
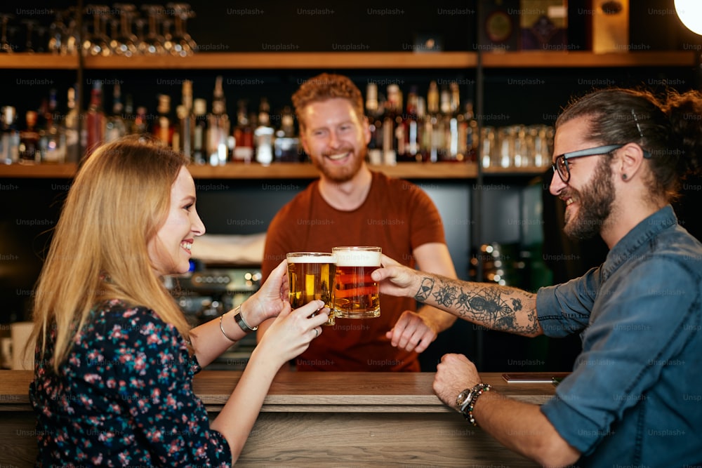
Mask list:
[[[615,196],[611,178],[609,159],[602,158],[589,185],[581,190],[568,189],[566,194],[574,194],[578,203],[576,217],[567,220],[563,228],[563,232],[571,239],[585,240],[597,236],[608,222]]]

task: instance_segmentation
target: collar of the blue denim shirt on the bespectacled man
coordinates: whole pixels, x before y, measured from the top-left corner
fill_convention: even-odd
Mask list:
[[[602,265],[602,279],[607,281],[618,267],[629,260],[633,253],[663,230],[677,225],[677,217],[670,205],[664,206],[637,224],[609,250],[607,260]]]

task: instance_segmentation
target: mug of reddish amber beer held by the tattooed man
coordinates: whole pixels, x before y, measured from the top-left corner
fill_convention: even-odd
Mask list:
[[[371,272],[380,268],[380,247],[334,247],[334,313],[339,319],[380,316],[380,288]]]

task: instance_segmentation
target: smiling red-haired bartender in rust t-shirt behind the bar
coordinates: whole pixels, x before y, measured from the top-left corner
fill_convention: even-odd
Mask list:
[[[289,252],[331,252],[335,246],[378,246],[403,265],[456,277],[444,228],[420,187],[366,165],[371,130],[359,88],[347,77],[320,74],[293,95],[300,142],[319,179],[272,220],[263,277]],[[416,310],[406,297],[380,297],[374,319],[336,319],[293,363],[296,370],[419,371],[418,353],[456,317]],[[258,337],[267,329],[258,327]]]

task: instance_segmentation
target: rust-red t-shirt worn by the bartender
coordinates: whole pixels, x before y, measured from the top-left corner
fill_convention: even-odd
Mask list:
[[[420,187],[406,180],[373,173],[366,201],[352,211],[329,206],[319,194],[319,180],[300,192],[275,215],[263,255],[267,278],[286,253],[331,252],[336,246],[379,246],[390,258],[414,267],[413,249],[445,243],[439,212]],[[415,352],[390,345],[385,337],[405,310],[416,310],[411,298],[380,295],[380,317],[336,319],[296,359],[298,370],[418,371]]]

